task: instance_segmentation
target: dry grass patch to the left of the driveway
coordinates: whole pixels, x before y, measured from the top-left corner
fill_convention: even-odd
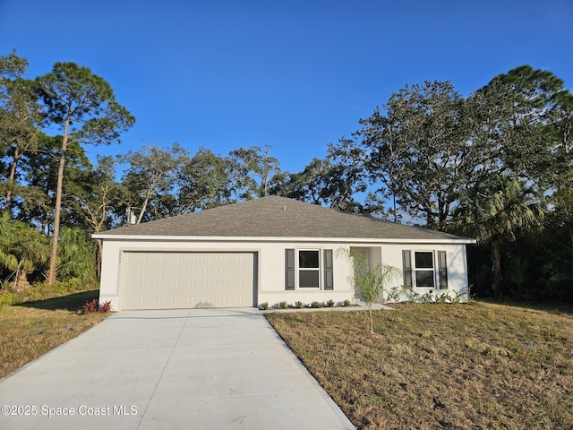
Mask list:
[[[0,307],[0,378],[76,337],[106,314],[78,312],[97,291]]]

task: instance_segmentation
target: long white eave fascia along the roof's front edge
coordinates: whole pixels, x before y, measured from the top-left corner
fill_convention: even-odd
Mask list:
[[[339,244],[449,244],[473,245],[475,239],[455,238],[383,238],[383,237],[290,237],[290,236],[140,236],[92,234],[94,239],[130,242],[298,242]]]

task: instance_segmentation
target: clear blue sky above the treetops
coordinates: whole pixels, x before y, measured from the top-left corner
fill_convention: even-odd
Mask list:
[[[137,118],[124,154],[270,145],[300,171],[406,83],[463,95],[521,64],[573,88],[573,0],[0,0],[0,54],[90,67]]]

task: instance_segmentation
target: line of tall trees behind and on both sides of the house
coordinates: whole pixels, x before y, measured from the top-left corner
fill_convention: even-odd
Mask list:
[[[0,280],[96,282],[90,233],[278,194],[475,237],[480,296],[573,301],[573,96],[528,65],[463,97],[451,82],[406,85],[300,172],[270,147],[226,155],[148,143],[115,157],[135,118],[90,69],[56,63],[34,80],[0,57]],[[50,133],[56,130],[56,133]]]

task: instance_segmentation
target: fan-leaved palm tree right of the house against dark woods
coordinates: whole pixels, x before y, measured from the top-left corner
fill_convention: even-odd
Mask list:
[[[518,231],[539,225],[544,211],[537,193],[517,178],[492,176],[461,199],[454,214],[459,233],[492,247],[493,294],[501,294],[501,249]]]

